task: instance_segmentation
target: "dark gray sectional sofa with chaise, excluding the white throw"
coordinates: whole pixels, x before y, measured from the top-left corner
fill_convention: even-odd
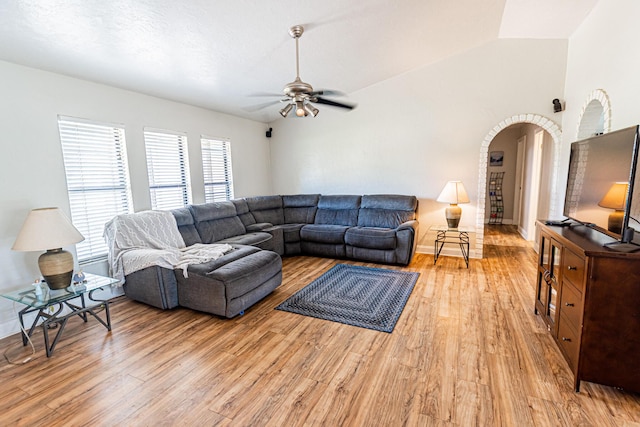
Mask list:
[[[403,195],[300,194],[190,205],[171,211],[187,246],[234,249],[182,272],[153,266],[125,276],[125,294],[233,317],[282,281],[280,256],[312,255],[407,265],[417,244],[418,201]]]

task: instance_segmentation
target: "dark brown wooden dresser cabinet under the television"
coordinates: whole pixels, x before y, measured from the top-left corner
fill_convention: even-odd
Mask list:
[[[582,225],[538,222],[540,255],[535,312],[574,374],[640,392],[640,252],[621,253],[614,240]]]

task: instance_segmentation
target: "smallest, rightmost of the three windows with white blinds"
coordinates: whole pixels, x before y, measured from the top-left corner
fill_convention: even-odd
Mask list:
[[[205,202],[233,199],[231,173],[231,143],[202,137],[202,170],[204,173]]]

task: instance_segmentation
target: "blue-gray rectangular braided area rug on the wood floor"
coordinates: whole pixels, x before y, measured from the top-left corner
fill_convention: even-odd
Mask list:
[[[338,264],[276,310],[392,332],[419,273]]]

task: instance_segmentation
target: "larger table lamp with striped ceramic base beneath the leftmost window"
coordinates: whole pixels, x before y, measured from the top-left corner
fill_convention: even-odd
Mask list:
[[[40,273],[49,289],[71,284],[73,255],[62,249],[84,240],[59,208],[33,209],[13,244],[14,251],[46,251],[38,258]]]

